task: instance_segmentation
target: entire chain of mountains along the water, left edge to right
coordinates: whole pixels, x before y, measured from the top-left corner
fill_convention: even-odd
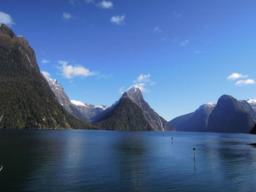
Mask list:
[[[256,133],[256,101],[221,96],[167,122],[133,85],[110,106],[69,100],[57,80],[44,77],[23,37],[0,25],[0,128],[86,128],[117,131]],[[176,128],[175,128],[176,127]],[[251,130],[252,129],[252,130]]]

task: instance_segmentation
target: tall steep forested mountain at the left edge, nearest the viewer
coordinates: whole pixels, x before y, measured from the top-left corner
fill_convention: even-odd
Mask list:
[[[63,110],[29,42],[4,24],[0,55],[0,128],[99,128]]]

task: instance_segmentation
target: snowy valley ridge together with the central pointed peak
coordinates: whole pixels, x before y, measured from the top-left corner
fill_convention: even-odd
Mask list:
[[[107,107],[70,101],[58,81],[45,78],[59,104],[81,120],[96,123],[104,129],[119,131],[176,131],[170,123],[151,109],[136,85],[125,91],[116,103]]]

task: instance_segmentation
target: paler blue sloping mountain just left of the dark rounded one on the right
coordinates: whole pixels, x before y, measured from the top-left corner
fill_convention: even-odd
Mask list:
[[[195,112],[187,115],[181,115],[178,118],[170,120],[170,123],[176,128],[177,131],[197,131],[206,132],[208,126],[208,117],[216,103],[211,102],[201,105]]]

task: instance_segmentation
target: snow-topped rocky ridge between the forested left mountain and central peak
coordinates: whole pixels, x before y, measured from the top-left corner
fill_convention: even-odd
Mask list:
[[[48,85],[56,96],[56,100],[59,101],[59,104],[61,104],[67,112],[80,120],[86,120],[91,123],[99,122],[113,107],[113,105],[107,107],[104,105],[86,104],[75,100],[70,101],[64,88],[62,88],[57,80],[50,79],[49,77],[45,77],[45,80],[47,80]]]

